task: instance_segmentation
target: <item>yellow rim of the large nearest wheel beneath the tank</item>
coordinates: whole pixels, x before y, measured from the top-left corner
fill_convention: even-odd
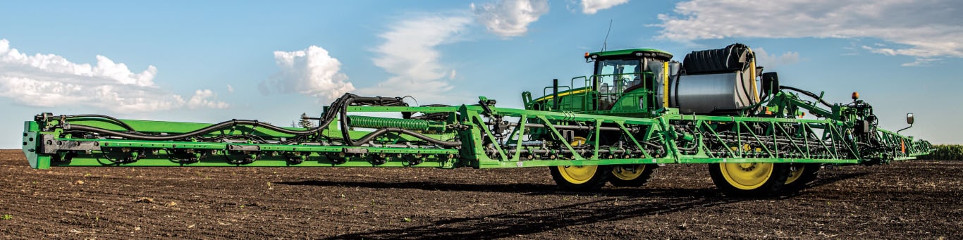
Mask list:
[[[719,163],[719,169],[730,185],[742,190],[752,190],[769,180],[773,165],[764,162]]]

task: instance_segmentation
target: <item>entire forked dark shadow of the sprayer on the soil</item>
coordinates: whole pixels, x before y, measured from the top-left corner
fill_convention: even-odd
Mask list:
[[[859,178],[868,173],[842,174],[828,179],[819,179],[811,187],[830,184],[840,180]],[[586,192],[560,191],[551,184],[471,184],[445,183],[432,181],[410,182],[371,182],[371,181],[328,181],[301,180],[282,181],[278,184],[305,186],[342,186],[375,189],[422,189],[430,191],[471,191],[500,192],[525,195],[586,195]],[[417,239],[463,239],[501,238],[551,231],[571,226],[590,225],[599,222],[619,221],[644,216],[668,214],[692,208],[713,207],[733,204],[758,198],[732,198],[718,193],[715,188],[697,189],[631,189],[604,188],[587,194],[609,198],[587,203],[565,204],[555,207],[525,210],[513,213],[491,214],[480,217],[452,218],[433,221],[409,228],[380,229],[331,237],[341,238],[417,238]],[[800,193],[783,193],[772,196],[774,200],[792,199]],[[611,197],[620,197],[618,199]],[[626,201],[635,200],[635,201]],[[633,204],[630,204],[633,203]]]

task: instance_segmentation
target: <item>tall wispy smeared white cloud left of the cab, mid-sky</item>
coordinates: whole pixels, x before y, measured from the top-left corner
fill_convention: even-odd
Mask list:
[[[380,37],[385,42],[375,48],[375,65],[394,76],[374,86],[358,89],[361,95],[411,95],[421,102],[452,100],[445,77],[449,71],[439,63],[441,53],[435,47],[457,41],[458,35],[472,22],[466,16],[423,15],[402,20]],[[423,101],[425,100],[425,101]]]

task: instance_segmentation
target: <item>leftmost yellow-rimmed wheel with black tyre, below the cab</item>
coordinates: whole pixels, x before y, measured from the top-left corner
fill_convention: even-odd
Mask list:
[[[552,170],[552,180],[563,190],[594,191],[605,186],[612,176],[611,166],[556,166]]]

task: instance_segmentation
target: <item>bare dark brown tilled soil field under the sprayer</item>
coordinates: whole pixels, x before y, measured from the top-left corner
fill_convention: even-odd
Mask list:
[[[19,150],[0,176],[7,238],[963,239],[963,161],[823,169],[768,199],[722,196],[700,164],[594,193],[545,168],[35,170]]]

